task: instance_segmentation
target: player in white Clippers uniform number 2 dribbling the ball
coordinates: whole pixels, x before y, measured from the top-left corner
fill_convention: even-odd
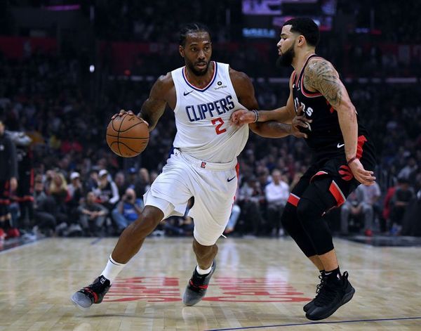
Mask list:
[[[166,105],[173,109],[177,126],[174,152],[145,193],[142,214],[121,233],[104,271],[93,284],[73,294],[72,301],[83,309],[102,301],[147,235],[168,216],[184,214],[191,197],[197,266],[183,296],[184,304],[192,306],[202,299],[215,271],[215,242],[227,225],[236,192],[236,157],[248,138],[248,126],[230,125],[229,118],[235,110],[258,109],[258,103],[246,74],[210,61],[212,44],[203,25],[182,29],[179,51],[185,67],[160,77],[138,114],[151,131]],[[122,110],[119,115],[125,113]],[[267,137],[304,136],[278,122],[253,123],[250,129]]]

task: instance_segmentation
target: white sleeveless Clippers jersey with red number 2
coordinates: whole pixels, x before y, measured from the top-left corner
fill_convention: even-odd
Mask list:
[[[213,63],[213,78],[203,89],[187,82],[185,67],[171,72],[177,94],[174,147],[199,160],[227,163],[246,145],[248,125],[229,124],[232,113],[244,107],[229,78],[229,65]]]

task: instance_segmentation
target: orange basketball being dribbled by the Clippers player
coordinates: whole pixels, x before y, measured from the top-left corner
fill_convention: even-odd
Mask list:
[[[112,119],[107,126],[107,144],[121,157],[134,157],[145,150],[149,141],[147,124],[135,115]]]

